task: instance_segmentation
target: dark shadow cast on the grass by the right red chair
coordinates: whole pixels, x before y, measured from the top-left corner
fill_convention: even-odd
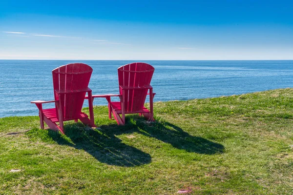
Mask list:
[[[143,117],[132,115],[126,117],[126,125],[102,125],[105,132],[115,131],[115,135],[137,132],[146,137],[154,137],[174,148],[197,154],[220,154],[224,152],[224,146],[205,139],[203,137],[191,136],[180,127],[169,122],[147,122]]]

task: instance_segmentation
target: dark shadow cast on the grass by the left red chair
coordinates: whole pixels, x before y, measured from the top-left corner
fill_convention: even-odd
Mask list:
[[[84,150],[102,163],[133,167],[151,162],[149,154],[122,143],[111,132],[84,127],[82,123],[64,125],[65,136],[49,130],[49,136],[60,145]]]

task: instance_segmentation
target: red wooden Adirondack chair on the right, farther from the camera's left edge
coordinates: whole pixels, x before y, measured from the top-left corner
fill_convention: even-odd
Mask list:
[[[106,98],[109,118],[111,119],[112,113],[119,125],[125,124],[125,114],[139,113],[140,116],[144,115],[146,119],[153,121],[155,93],[152,93],[150,81],[154,70],[151,65],[141,62],[121,66],[118,68],[119,95],[93,95],[92,98]],[[149,95],[149,110],[144,106],[146,95]],[[113,96],[118,96],[120,101],[111,101]]]

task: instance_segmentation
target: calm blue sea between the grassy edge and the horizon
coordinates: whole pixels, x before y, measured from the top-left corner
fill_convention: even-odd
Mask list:
[[[143,60],[142,60],[143,61]],[[93,94],[117,94],[117,68],[131,60],[0,60],[0,117],[38,115],[32,100],[52,100],[51,71],[83,62],[93,68]],[[186,100],[293,87],[293,60],[148,60],[155,101]],[[95,105],[106,100],[96,98]],[[44,108],[54,104],[45,105]],[[88,106],[84,103],[84,106]]]

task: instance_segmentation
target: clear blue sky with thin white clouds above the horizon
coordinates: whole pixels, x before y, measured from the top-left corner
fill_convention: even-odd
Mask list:
[[[293,59],[293,1],[1,0],[0,59]]]

